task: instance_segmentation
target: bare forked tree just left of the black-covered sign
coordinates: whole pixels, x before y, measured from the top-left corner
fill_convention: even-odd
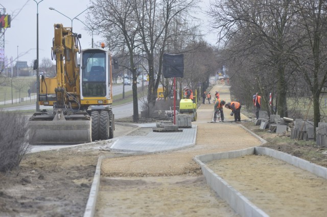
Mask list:
[[[146,53],[148,61],[148,103],[154,106],[160,79],[155,79],[155,59],[158,56],[157,78],[161,76],[162,58],[167,40],[171,36],[170,28],[176,20],[191,17],[188,12],[196,5],[195,0],[135,0],[134,10],[138,22],[140,48]]]

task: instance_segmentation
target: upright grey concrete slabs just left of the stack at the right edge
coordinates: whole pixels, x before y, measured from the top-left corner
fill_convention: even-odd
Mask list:
[[[314,124],[312,121],[295,119],[291,130],[291,139],[314,140]]]

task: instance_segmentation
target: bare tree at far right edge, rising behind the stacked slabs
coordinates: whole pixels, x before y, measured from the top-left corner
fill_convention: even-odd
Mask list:
[[[320,94],[327,81],[327,2],[295,1],[298,10],[297,38],[300,45],[290,59],[307,83],[313,100],[314,125],[320,122]]]

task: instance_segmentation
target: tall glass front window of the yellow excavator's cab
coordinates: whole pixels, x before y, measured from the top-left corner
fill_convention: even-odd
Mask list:
[[[106,53],[90,50],[82,54],[82,94],[84,97],[106,96]]]

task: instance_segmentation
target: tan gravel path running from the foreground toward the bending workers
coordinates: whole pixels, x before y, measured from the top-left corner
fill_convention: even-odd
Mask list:
[[[211,92],[218,90],[229,101],[227,87],[215,88]],[[193,157],[258,146],[260,141],[237,124],[208,123],[213,111],[213,104],[199,107],[198,120],[193,122],[197,140],[191,148],[103,160],[96,216],[109,212],[115,216],[237,216],[206,185]]]

